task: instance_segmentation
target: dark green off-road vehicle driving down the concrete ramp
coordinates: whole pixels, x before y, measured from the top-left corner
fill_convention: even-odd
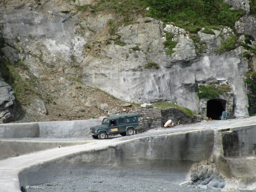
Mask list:
[[[138,128],[138,114],[127,113],[104,118],[101,125],[91,127],[90,132],[94,139],[106,139],[111,134],[133,135]]]

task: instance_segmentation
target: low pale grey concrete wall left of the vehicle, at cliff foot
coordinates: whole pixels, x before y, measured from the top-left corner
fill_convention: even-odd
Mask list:
[[[0,138],[68,138],[84,137],[90,134],[90,127],[101,124],[102,120],[76,120],[36,122],[21,124],[0,124]]]

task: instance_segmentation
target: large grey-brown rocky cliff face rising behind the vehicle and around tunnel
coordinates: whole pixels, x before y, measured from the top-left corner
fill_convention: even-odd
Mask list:
[[[16,64],[23,62],[36,77],[40,96],[33,95],[23,107],[27,114],[46,117],[42,120],[89,118],[85,114],[93,110],[100,116],[106,103],[108,111],[122,111],[121,101],[104,101],[104,94],[90,87],[129,102],[164,100],[198,112],[198,84],[213,81],[230,82],[234,116],[248,116],[244,74],[250,61],[243,56],[247,50],[243,46],[216,49],[235,33],[244,43],[244,35],[256,38],[256,19],[250,16],[248,1],[226,2],[247,12],[235,30],[222,27],[209,34],[202,29],[195,40],[182,28],[141,16],[111,34],[108,21],[118,19],[114,13],[76,9],[96,3],[93,0],[8,0],[0,2],[1,56]],[[172,54],[166,54],[163,45],[166,32],[177,42]],[[251,40],[250,46],[254,44]],[[25,74],[20,70],[24,79],[31,78]],[[49,96],[54,102],[49,102]]]

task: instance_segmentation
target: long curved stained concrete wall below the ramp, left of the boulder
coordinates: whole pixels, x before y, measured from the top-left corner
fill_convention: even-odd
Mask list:
[[[181,183],[188,180],[192,164],[210,157],[213,146],[213,130],[134,139],[27,168],[20,172],[20,186],[86,174]]]

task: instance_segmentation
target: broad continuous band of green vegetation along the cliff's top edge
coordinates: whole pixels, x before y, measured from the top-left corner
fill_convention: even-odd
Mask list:
[[[147,7],[149,11],[146,11]],[[115,12],[124,18],[124,24],[133,22],[133,18],[141,14],[194,30],[205,26],[232,27],[245,13],[244,10],[230,9],[231,5],[223,0],[100,0],[94,6],[77,6],[77,10],[83,12],[88,8]]]

